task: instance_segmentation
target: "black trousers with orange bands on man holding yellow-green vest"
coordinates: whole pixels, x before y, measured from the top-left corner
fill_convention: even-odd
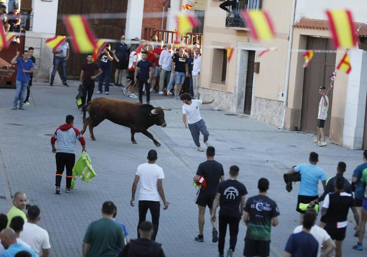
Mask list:
[[[75,164],[75,154],[67,152],[56,153],[56,186],[61,185],[62,173],[66,166],[66,187],[70,188],[73,178],[73,167]]]

